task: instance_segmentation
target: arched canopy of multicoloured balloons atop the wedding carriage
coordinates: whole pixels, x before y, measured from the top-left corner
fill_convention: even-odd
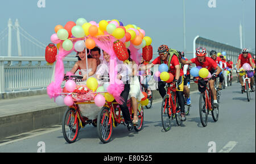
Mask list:
[[[95,21],[87,22],[84,18],[79,18],[75,22],[69,21],[65,26],[55,26],[55,33],[51,36],[51,41],[57,45],[57,48],[62,44],[65,51],[70,51],[73,46],[77,52],[82,51],[85,47],[93,49],[96,43],[90,36],[108,36],[112,35],[117,40],[122,40],[125,43],[126,48],[133,44],[135,48],[141,49],[146,45],[151,45],[152,39],[149,36],[145,36],[145,31],[137,27],[135,24],[127,24],[123,26],[123,23],[113,20],[101,20],[99,23]],[[83,38],[86,40],[78,40],[73,45],[74,38]]]

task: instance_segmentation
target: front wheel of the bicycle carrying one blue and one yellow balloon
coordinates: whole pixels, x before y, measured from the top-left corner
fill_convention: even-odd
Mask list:
[[[200,114],[200,120],[203,125],[203,127],[207,126],[207,120],[208,120],[208,110],[205,107],[205,92],[200,94],[199,98],[199,114]]]

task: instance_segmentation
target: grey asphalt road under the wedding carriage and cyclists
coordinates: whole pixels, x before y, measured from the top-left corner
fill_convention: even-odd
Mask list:
[[[10,137],[0,142],[0,152],[255,152],[255,92],[247,102],[246,94],[240,90],[238,83],[222,90],[219,119],[214,122],[209,115],[207,127],[201,125],[199,92],[194,92],[187,121],[180,127],[174,122],[168,132],[162,128],[161,100],[155,100],[152,108],[144,111],[142,131],[129,132],[118,125],[108,144],[102,144],[92,125],[82,128],[77,141],[68,144],[61,127],[56,125]]]

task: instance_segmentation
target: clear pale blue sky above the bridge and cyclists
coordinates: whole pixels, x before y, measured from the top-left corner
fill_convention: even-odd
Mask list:
[[[45,7],[38,7],[45,1]],[[240,48],[239,25],[243,23],[245,46],[255,51],[255,0],[185,0],[185,33],[187,52],[193,51],[193,39],[201,37]],[[153,51],[162,44],[183,51],[183,1],[181,0],[9,0],[0,2],[0,33],[9,18],[30,35],[48,44],[57,24],[85,18],[97,23],[117,19],[123,24],[136,24],[152,39]]]

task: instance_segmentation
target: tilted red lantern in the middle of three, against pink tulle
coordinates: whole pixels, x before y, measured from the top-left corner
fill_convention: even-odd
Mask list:
[[[125,47],[125,44],[122,41],[115,41],[114,45],[114,52],[117,58],[121,61],[125,61],[129,58],[129,53],[127,51],[127,48]]]

